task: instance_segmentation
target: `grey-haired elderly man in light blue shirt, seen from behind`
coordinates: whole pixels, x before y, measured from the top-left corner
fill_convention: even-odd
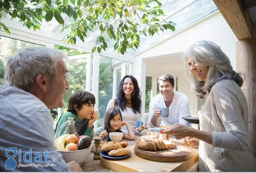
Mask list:
[[[7,83],[0,89],[0,171],[81,171],[67,165],[54,146],[49,109],[63,107],[69,89],[58,50],[26,48],[7,62]]]

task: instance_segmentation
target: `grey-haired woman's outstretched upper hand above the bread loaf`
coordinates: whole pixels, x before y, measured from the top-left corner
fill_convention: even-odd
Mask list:
[[[186,136],[189,136],[189,130],[191,127],[188,127],[187,125],[182,124],[174,124],[168,127],[166,130],[163,130],[163,133],[168,133],[174,136],[176,139],[185,138]]]

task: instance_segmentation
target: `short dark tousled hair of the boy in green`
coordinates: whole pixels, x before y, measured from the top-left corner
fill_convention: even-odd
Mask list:
[[[76,105],[76,109],[79,111],[84,104],[95,104],[95,96],[88,91],[80,90],[76,93],[73,93],[69,98],[68,112],[72,112],[76,114],[76,110],[74,106]]]

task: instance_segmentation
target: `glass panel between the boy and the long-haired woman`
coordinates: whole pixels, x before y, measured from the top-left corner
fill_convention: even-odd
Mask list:
[[[107,109],[108,101],[110,101],[114,96],[116,96],[117,89],[119,88],[119,83],[124,77],[126,66],[123,65],[132,63],[116,60],[109,57],[100,57],[100,73],[99,73],[99,101],[98,101],[98,121],[97,125],[104,124],[104,117]],[[115,78],[114,78],[115,77]],[[114,92],[114,93],[113,93]]]

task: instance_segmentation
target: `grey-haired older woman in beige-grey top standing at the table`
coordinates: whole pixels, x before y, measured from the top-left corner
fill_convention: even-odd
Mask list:
[[[176,139],[191,136],[192,143],[200,140],[200,172],[256,171],[249,151],[248,108],[240,74],[220,47],[209,41],[190,46],[185,59],[192,90],[199,98],[207,98],[199,115],[200,130],[174,124],[164,133]]]

